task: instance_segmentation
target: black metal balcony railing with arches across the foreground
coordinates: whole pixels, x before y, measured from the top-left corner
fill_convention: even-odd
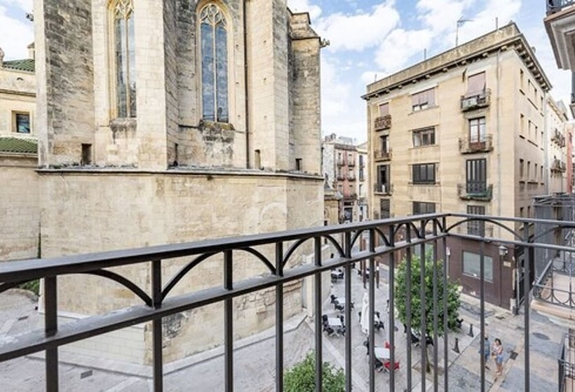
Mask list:
[[[470,221],[479,221],[496,225],[501,230],[506,230],[511,234],[508,239],[479,237],[475,235],[466,235],[459,233],[460,226],[466,227]],[[57,391],[59,388],[58,373],[58,348],[65,344],[95,337],[106,332],[120,330],[130,325],[151,322],[151,358],[153,367],[154,391],[163,390],[163,354],[162,354],[162,318],[177,314],[190,309],[198,309],[208,304],[224,304],[224,390],[231,392],[234,390],[234,318],[233,300],[249,293],[255,293],[258,290],[272,288],[275,290],[276,301],[276,346],[275,346],[275,388],[276,391],[283,391],[283,372],[284,372],[284,345],[283,345],[283,290],[287,283],[300,281],[306,276],[313,276],[313,318],[316,321],[322,320],[323,293],[322,280],[323,272],[330,271],[334,267],[344,268],[344,285],[347,298],[351,298],[351,265],[355,262],[366,261],[370,271],[375,271],[375,260],[378,257],[385,256],[388,260],[389,267],[389,309],[394,309],[394,290],[395,290],[395,267],[398,266],[400,252],[405,254],[405,262],[412,262],[412,253],[414,248],[419,248],[419,254],[426,252],[426,244],[433,244],[433,260],[447,259],[448,248],[447,239],[449,237],[457,239],[466,239],[469,241],[479,241],[481,246],[480,252],[480,325],[478,327],[480,335],[485,334],[485,267],[483,262],[484,246],[491,242],[497,242],[505,246],[521,248],[525,253],[525,276],[529,276],[529,266],[534,260],[534,248],[543,247],[554,251],[574,251],[571,246],[557,246],[554,244],[540,244],[536,241],[538,237],[529,237],[529,233],[515,232],[514,227],[517,223],[524,225],[532,223],[533,220],[522,218],[501,218],[494,216],[472,216],[468,214],[427,214],[421,216],[410,216],[407,218],[392,218],[381,221],[368,221],[362,223],[350,223],[346,225],[334,225],[313,229],[292,230],[287,232],[275,232],[262,235],[250,235],[245,237],[212,239],[196,241],[186,244],[171,244],[164,246],[151,246],[147,248],[137,248],[125,251],[108,251],[103,253],[90,253],[83,255],[64,256],[60,258],[18,260],[5,262],[0,265],[0,293],[10,288],[18,286],[27,281],[44,279],[43,295],[45,297],[45,328],[32,332],[25,332],[14,339],[0,340],[0,362],[20,358],[30,353],[39,351],[46,352],[46,390],[48,392]],[[575,222],[568,221],[545,221],[538,220],[538,223],[546,224],[553,229],[573,230]],[[365,236],[369,237],[369,246],[363,251],[354,251],[356,244]],[[509,239],[510,238],[510,239]],[[325,243],[329,243],[334,249],[334,255],[330,258],[323,258],[322,248]],[[292,258],[297,254],[299,248],[304,244],[311,244],[313,248],[313,262],[311,264],[292,265]],[[257,247],[266,246],[266,252],[258,251]],[[262,264],[266,270],[264,274],[250,276],[246,279],[234,279],[234,272],[238,267],[237,253],[248,253]],[[203,290],[189,291],[181,295],[172,297],[168,294],[182,281],[185,276],[194,274],[196,268],[202,263],[209,262],[213,256],[222,256],[222,284],[210,286]],[[164,262],[172,258],[189,258],[179,272],[172,276],[162,276],[162,267]],[[134,265],[150,271],[149,287],[141,288],[125,276],[112,272],[109,268]],[[424,269],[421,268],[421,271]],[[441,274],[439,274],[441,270]],[[118,271],[115,269],[115,271]],[[407,268],[407,281],[410,282],[410,268]],[[117,309],[107,314],[90,316],[82,318],[72,323],[58,325],[57,323],[57,282],[58,278],[68,274],[94,274],[107,279],[116,281],[130,290],[135,297],[142,300],[141,304]],[[168,279],[166,279],[168,278]],[[421,279],[424,276],[422,272]],[[433,340],[433,353],[431,354],[434,363],[440,363],[438,356],[442,351],[442,369],[433,367],[433,374],[430,374],[431,380],[426,379],[426,372],[421,371],[420,379],[414,380],[414,374],[417,372],[413,369],[412,352],[407,350],[407,364],[403,367],[406,372],[407,381],[405,386],[396,386],[395,373],[389,373],[386,378],[388,390],[403,391],[407,388],[412,391],[414,384],[419,384],[421,390],[426,390],[426,383],[433,385],[434,391],[449,391],[449,338],[450,332],[447,320],[447,269],[438,269],[437,264],[433,267],[433,297],[436,299],[433,303],[433,334],[429,337]],[[443,295],[438,295],[438,282],[442,281]],[[421,285],[422,290],[424,285]],[[369,324],[374,325],[374,295],[375,281],[374,274],[370,274],[367,292],[370,296],[369,302]],[[524,286],[525,297],[529,297],[530,285]],[[410,287],[407,287],[407,319],[406,328],[411,330],[412,326],[419,330],[426,329],[426,318],[421,318],[421,325],[412,325],[412,301]],[[424,307],[424,297],[421,298],[421,306]],[[415,303],[415,302],[414,302]],[[438,317],[442,314],[442,318]],[[523,329],[525,333],[525,344],[527,348],[523,353],[524,385],[523,391],[530,390],[530,357],[529,357],[529,304],[524,303],[523,309]],[[345,320],[351,320],[351,307],[344,310]],[[388,312],[388,325],[395,325],[395,312]],[[442,325],[445,330],[442,340],[438,340],[438,330]],[[346,391],[352,388],[352,356],[353,351],[351,335],[353,325],[348,323],[347,333],[344,337],[345,350],[345,375]],[[410,346],[410,336],[405,335],[407,346]],[[314,326],[314,339],[316,351],[316,385],[320,386],[322,380],[322,363],[323,363],[323,325],[316,322]],[[374,328],[370,328],[368,339],[370,346],[374,347]],[[397,339],[404,339],[398,337]],[[388,328],[388,341],[391,347],[395,347],[395,330]],[[484,340],[480,339],[480,349],[483,352]],[[424,361],[427,346],[421,344],[421,370],[424,369]],[[374,368],[375,360],[374,351],[369,353],[370,368]],[[395,363],[394,350],[390,350],[390,361]],[[481,356],[480,363],[480,381],[481,391],[485,391],[485,358]],[[375,388],[375,375],[370,372],[369,378],[370,391]],[[317,391],[322,388],[318,387]]]

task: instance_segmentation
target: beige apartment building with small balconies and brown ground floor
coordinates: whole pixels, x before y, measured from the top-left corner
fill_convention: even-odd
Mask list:
[[[440,211],[533,217],[532,197],[548,191],[551,173],[550,88],[514,23],[368,85],[372,218]],[[458,230],[513,239],[489,224]],[[449,242],[449,275],[472,295],[479,293],[477,247]],[[521,262],[520,251],[485,246],[489,302],[516,305]]]

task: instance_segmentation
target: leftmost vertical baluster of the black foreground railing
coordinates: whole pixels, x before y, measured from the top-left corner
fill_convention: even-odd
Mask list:
[[[57,277],[44,278],[44,332],[46,337],[56,334],[58,330],[58,302],[57,302]],[[58,390],[58,349],[46,349],[46,391]]]

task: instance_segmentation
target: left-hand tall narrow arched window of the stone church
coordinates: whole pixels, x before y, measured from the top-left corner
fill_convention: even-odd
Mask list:
[[[114,56],[114,98],[117,117],[136,116],[133,0],[111,0],[111,43]]]

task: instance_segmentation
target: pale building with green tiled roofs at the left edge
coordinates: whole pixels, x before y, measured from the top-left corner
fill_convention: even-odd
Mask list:
[[[34,44],[25,59],[0,48],[0,261],[38,253],[40,205]]]

